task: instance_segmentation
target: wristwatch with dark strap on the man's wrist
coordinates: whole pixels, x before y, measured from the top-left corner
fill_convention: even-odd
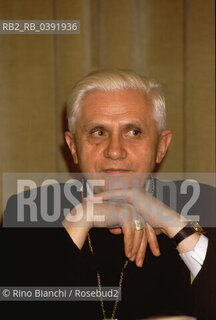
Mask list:
[[[201,234],[204,232],[204,230],[198,222],[189,221],[188,224],[183,229],[181,229],[173,238],[170,238],[170,240],[176,248],[182,240],[189,237],[195,232]]]

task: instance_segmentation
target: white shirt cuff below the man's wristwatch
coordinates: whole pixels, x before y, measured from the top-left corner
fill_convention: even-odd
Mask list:
[[[180,257],[192,273],[196,277],[202,268],[208,248],[208,238],[203,234],[200,236],[197,244],[192,251],[180,253]]]

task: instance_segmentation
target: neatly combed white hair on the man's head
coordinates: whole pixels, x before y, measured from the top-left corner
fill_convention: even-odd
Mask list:
[[[118,90],[140,91],[148,105],[153,108],[153,117],[160,133],[166,126],[165,98],[160,85],[152,79],[141,77],[128,70],[97,70],[78,81],[67,101],[68,128],[75,132],[75,122],[84,98],[95,91],[114,92]]]

